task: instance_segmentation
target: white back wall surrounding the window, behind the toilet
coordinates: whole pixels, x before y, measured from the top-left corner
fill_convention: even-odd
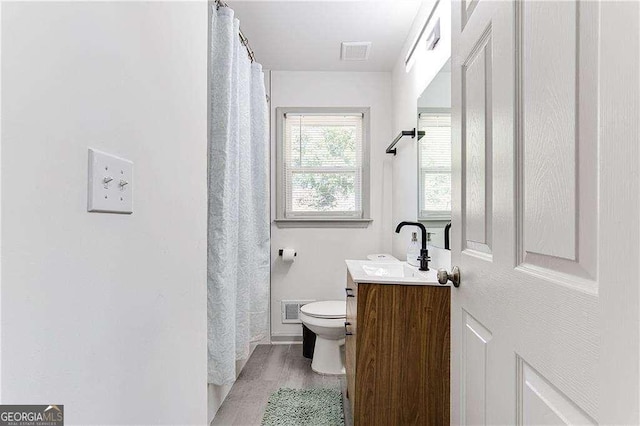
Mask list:
[[[271,227],[271,332],[275,339],[300,335],[300,324],[282,324],[280,301],[344,300],[345,259],[362,259],[391,246],[391,159],[385,148],[392,140],[391,75],[386,72],[271,73],[272,172],[275,173],[276,107],[371,108],[371,218],[368,228]],[[414,110],[415,113],[415,110]],[[275,174],[272,198],[275,199]],[[387,200],[386,202],[384,200]],[[275,206],[272,205],[272,218]],[[283,263],[278,249],[293,247],[298,256]]]

